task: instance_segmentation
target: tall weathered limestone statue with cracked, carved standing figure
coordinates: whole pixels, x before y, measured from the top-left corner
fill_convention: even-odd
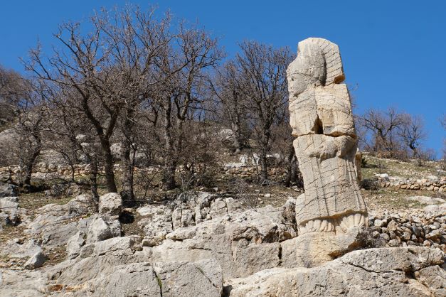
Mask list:
[[[299,234],[345,233],[367,224],[356,181],[357,138],[338,45],[307,38],[287,68],[290,124],[304,178],[296,202]]]

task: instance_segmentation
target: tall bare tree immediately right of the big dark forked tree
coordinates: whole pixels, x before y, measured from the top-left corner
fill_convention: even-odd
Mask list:
[[[155,73],[156,59],[159,60],[172,38],[168,31],[170,16],[167,14],[158,20],[154,9],[143,12],[127,7],[124,11],[113,11],[112,16],[103,13],[93,21],[105,36],[105,43],[115,61],[115,71],[121,77],[117,91],[122,102],[118,122],[121,132],[121,195],[125,201],[132,201],[134,155],[137,152],[134,129],[140,104],[156,92],[156,84],[162,83]]]

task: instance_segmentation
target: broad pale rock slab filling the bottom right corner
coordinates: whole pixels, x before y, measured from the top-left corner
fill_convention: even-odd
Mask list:
[[[230,281],[225,291],[229,296],[442,296],[446,272],[437,265],[443,261],[437,249],[366,249],[312,269],[260,271]],[[423,274],[430,274],[429,282]]]

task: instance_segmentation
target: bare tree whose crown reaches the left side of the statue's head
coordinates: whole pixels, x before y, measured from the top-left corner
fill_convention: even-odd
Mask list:
[[[255,131],[260,152],[260,179],[267,181],[267,153],[270,151],[271,127],[280,107],[287,104],[286,69],[294,55],[289,48],[272,48],[257,42],[240,44],[235,57],[240,72],[240,95],[246,99],[245,111]]]

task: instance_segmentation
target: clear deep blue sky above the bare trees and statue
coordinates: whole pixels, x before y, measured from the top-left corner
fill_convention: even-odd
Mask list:
[[[221,36],[228,55],[245,39],[288,45],[307,37],[327,38],[341,49],[346,82],[354,87],[358,112],[389,106],[425,117],[425,146],[440,151],[446,113],[446,1],[443,0],[294,0],[294,1],[119,1],[15,0],[0,5],[0,63],[23,71],[37,38],[43,50],[55,43],[51,33],[62,21],[82,21],[93,9],[125,3],[199,21]]]

